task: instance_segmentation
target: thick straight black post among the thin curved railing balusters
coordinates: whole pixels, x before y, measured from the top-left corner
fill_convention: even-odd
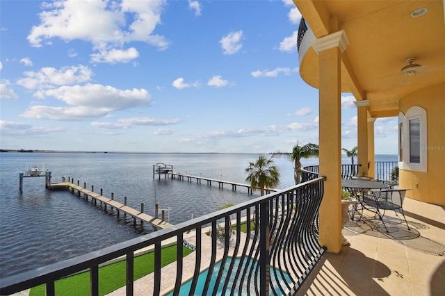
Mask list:
[[[269,295],[270,257],[269,257],[269,203],[263,202],[259,208],[259,279],[260,295]]]

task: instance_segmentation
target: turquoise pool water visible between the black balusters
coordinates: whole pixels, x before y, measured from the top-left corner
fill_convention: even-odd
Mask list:
[[[229,272],[229,266],[232,260],[235,260],[234,263],[234,270],[238,270],[238,265],[241,261],[240,258],[227,258],[227,262],[225,263],[224,266],[224,272],[223,272],[223,277],[221,277],[220,280],[220,285],[218,286],[218,292],[216,293],[216,295],[223,295],[223,292],[225,292],[223,290],[224,288],[224,283],[225,280],[227,279],[227,273]],[[257,268],[257,261],[249,261],[249,265],[247,266],[247,268],[245,267],[245,265],[247,264],[247,260],[243,261],[243,265],[241,265],[241,269],[242,270],[256,270]],[[253,266],[252,266],[253,265]],[[221,267],[221,261],[215,264],[215,267],[213,268],[213,272],[211,274],[211,279],[209,281],[209,288],[212,288],[214,286],[216,286],[216,279],[218,279],[218,272],[220,271],[220,267]],[[245,269],[246,268],[246,269]],[[276,276],[275,277],[275,272],[276,272]],[[200,276],[197,279],[197,283],[196,283],[196,288],[195,288],[195,293],[194,295],[202,295],[203,291],[204,291],[204,286],[206,284],[206,279],[207,279],[207,274],[209,273],[209,270],[204,270],[204,272],[200,273]],[[243,272],[241,274],[244,274]],[[232,288],[232,286],[234,286],[234,282],[235,282],[235,277],[236,277],[236,272],[232,272],[229,274],[229,284],[227,287],[229,287],[229,289]],[[275,268],[270,268],[270,279],[272,279],[272,286],[277,288],[278,283],[280,283],[280,286],[286,286],[284,283],[289,283],[291,281],[291,278],[289,277],[289,274],[286,274],[286,272],[280,272],[279,270],[275,269]],[[241,293],[239,293],[239,284],[241,281],[241,277],[236,279],[236,288],[234,290],[234,294],[235,295],[256,295],[256,292],[254,290],[254,288],[252,286],[250,286],[250,293],[248,294],[248,278],[245,277],[244,281],[243,281],[243,286],[242,286],[242,290]],[[192,280],[190,281],[186,281],[186,283],[183,283],[181,285],[181,291],[179,292],[179,295],[189,295],[190,293],[190,289],[192,286]],[[277,292],[277,291],[275,291]],[[170,295],[173,295],[173,292],[171,292]]]

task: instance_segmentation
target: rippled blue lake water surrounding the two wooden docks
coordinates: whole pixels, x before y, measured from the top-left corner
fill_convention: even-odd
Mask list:
[[[44,177],[25,178],[19,193],[19,172],[29,166],[44,166],[52,183],[68,177],[93,185],[95,192],[154,215],[154,203],[170,208],[170,223],[177,224],[218,210],[225,203],[238,204],[248,195],[246,188],[232,191],[207,186],[206,182],[153,178],[153,165],[173,165],[175,172],[245,183],[245,167],[258,154],[114,154],[114,153],[1,153],[0,154],[0,277],[39,268],[107,247],[152,231],[148,224],[133,226],[131,217],[117,217],[70,192],[49,191]],[[376,161],[396,161],[397,156],[376,156]],[[348,158],[343,163],[349,163]],[[316,165],[318,159],[305,159]],[[276,158],[280,170],[279,188],[293,186],[293,165]],[[155,194],[156,192],[156,194]]]

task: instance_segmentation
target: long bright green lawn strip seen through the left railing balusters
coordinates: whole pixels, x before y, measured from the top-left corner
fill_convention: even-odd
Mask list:
[[[191,254],[191,250],[183,247],[184,256]],[[177,247],[165,247],[162,249],[161,265],[165,266],[176,261]],[[120,287],[125,286],[126,273],[125,261],[113,263],[99,268],[99,295],[106,295]],[[150,252],[134,258],[134,280],[154,272],[154,252]],[[56,295],[79,296],[90,295],[90,272],[73,275],[65,279],[59,279],[55,283]],[[44,296],[45,285],[31,288],[30,296]]]

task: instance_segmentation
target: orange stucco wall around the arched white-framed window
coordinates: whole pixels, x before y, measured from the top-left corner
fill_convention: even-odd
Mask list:
[[[427,113],[427,172],[400,170],[400,188],[411,188],[407,197],[445,206],[445,83],[423,88],[399,100],[406,114],[412,106]],[[405,152],[407,153],[407,152]]]

